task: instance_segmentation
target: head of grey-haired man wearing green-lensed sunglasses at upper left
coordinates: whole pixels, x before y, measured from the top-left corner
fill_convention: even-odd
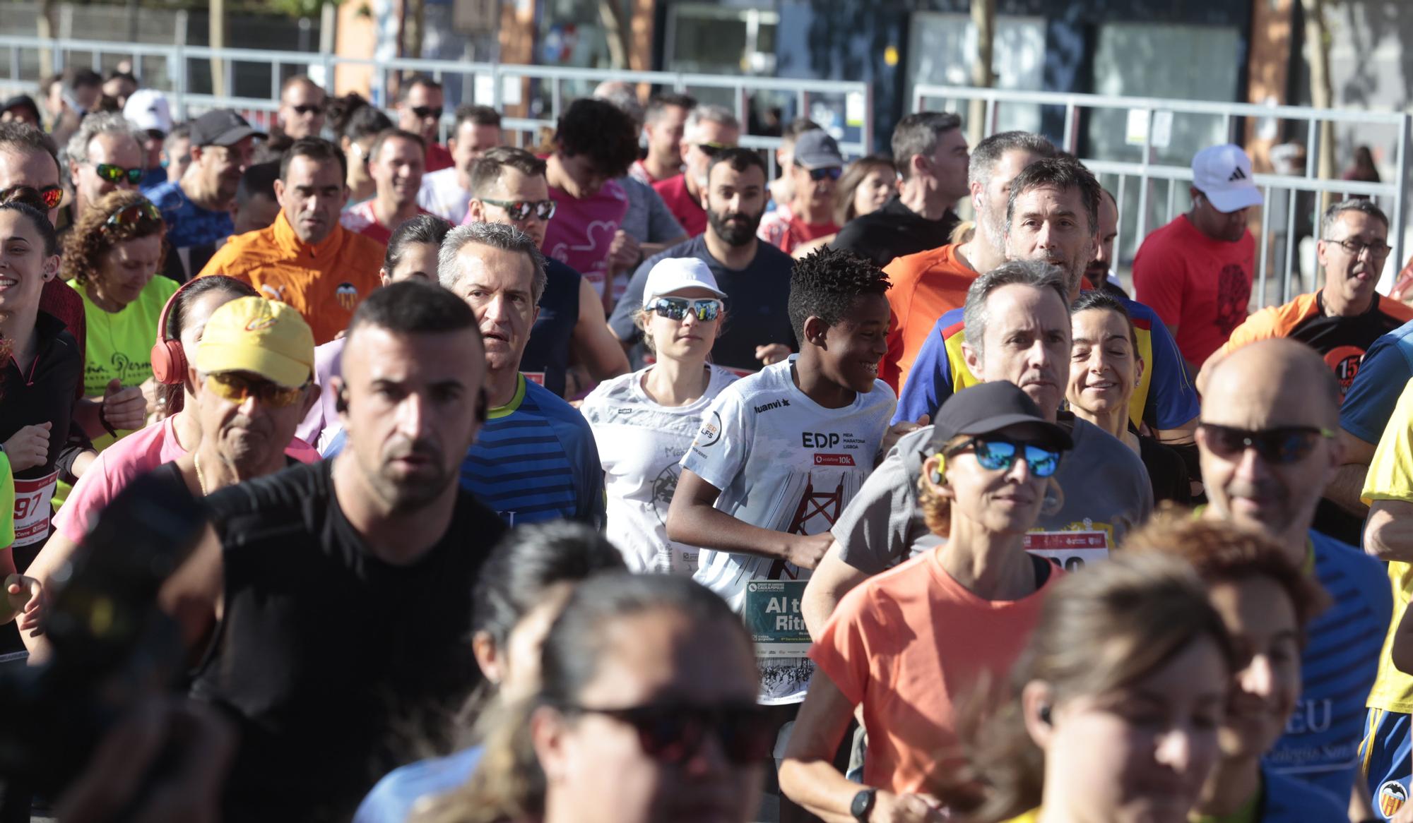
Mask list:
[[[89,114],[73,133],[64,154],[69,161],[73,203],[59,230],[78,223],[85,209],[103,195],[133,191],[143,182],[143,138],[137,127],[116,113]]]

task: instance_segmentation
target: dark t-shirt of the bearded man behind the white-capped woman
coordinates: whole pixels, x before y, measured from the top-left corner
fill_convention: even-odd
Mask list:
[[[706,250],[705,234],[678,243],[643,261],[627,284],[627,292],[613,308],[609,328],[619,340],[636,343],[642,337],[633,325],[633,313],[643,308],[643,289],[647,287],[647,272],[658,260],[670,257],[695,257],[711,268],[716,287],[726,292],[726,328],[712,346],[711,359],[718,366],[757,371],[756,346],[784,343],[791,350],[798,349],[794,332],[790,329],[790,267],[794,260],[767,243],[756,243],[756,257],[746,268],[726,268]]]

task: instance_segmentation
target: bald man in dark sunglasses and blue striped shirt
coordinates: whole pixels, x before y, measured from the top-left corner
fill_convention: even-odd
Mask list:
[[[1304,689],[1266,762],[1352,796],[1351,807],[1364,813],[1351,819],[1366,820],[1373,815],[1358,781],[1359,741],[1392,599],[1382,563],[1311,528],[1342,460],[1338,428],[1340,384],[1313,349],[1275,339],[1232,352],[1211,368],[1202,394],[1197,447],[1208,505],[1201,517],[1265,534],[1334,600],[1310,624]]]

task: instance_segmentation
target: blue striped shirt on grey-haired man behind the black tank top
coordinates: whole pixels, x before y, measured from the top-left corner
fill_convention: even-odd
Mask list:
[[[510,525],[569,518],[603,524],[603,467],[577,408],[520,376],[461,464],[461,486]]]

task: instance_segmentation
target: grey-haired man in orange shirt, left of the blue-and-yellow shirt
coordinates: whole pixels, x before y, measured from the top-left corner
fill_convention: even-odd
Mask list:
[[[1010,181],[1031,162],[1054,155],[1056,147],[1048,140],[1029,131],[1002,131],[982,140],[972,150],[966,171],[972,209],[976,212],[972,239],[899,257],[883,268],[893,284],[889,291],[893,323],[879,378],[892,385],[899,397],[937,318],[961,308],[966,287],[978,272],[1006,261]]]

